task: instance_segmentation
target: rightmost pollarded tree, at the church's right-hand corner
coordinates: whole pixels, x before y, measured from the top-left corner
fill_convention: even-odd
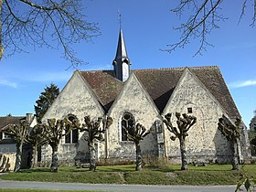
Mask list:
[[[239,170],[238,143],[240,140],[240,119],[237,118],[235,124],[223,114],[219,118],[219,131],[227,138],[232,151],[232,170]]]

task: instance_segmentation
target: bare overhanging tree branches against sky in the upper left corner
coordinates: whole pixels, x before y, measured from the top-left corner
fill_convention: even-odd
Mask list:
[[[70,47],[100,35],[97,24],[86,20],[81,0],[0,0],[0,59],[26,51],[27,45],[63,48],[63,57],[76,67],[83,61]]]

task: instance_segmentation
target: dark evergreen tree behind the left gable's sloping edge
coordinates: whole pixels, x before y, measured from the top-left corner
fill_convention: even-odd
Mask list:
[[[51,83],[43,92],[41,92],[39,99],[36,101],[37,106],[34,105],[38,122],[41,122],[44,114],[48,111],[48,108],[51,106],[53,101],[55,101],[58,95],[59,88],[54,83]]]

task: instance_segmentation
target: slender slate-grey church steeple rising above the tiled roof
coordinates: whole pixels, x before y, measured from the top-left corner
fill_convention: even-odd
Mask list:
[[[127,55],[122,29],[120,29],[119,32],[116,56],[112,62],[112,65],[116,79],[125,81],[129,78],[131,63]]]

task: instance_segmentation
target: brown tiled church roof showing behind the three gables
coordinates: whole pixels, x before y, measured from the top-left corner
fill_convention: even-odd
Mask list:
[[[176,84],[185,69],[197,76],[219,101],[230,117],[240,117],[240,113],[229,93],[229,89],[220,73],[219,67],[167,68],[167,69],[134,69],[132,72],[142,82],[144,89],[155,102],[159,112],[176,88]],[[92,90],[99,97],[104,109],[108,111],[112,102],[123,88],[123,82],[114,78],[113,70],[80,71]]]

